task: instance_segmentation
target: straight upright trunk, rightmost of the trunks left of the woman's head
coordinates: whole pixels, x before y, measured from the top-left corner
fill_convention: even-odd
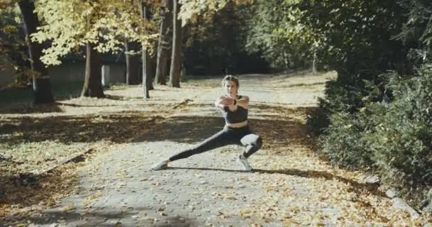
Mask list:
[[[181,65],[181,49],[182,49],[182,27],[181,21],[178,20],[180,12],[180,4],[178,0],[173,1],[173,50],[171,54],[170,68],[170,86],[180,87],[180,65]]]

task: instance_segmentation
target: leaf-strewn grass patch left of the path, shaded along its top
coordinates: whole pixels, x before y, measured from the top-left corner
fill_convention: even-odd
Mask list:
[[[82,108],[85,109],[85,108]],[[85,116],[6,117],[0,123],[0,177],[38,172],[90,148],[124,143],[153,126],[152,116],[134,111]]]

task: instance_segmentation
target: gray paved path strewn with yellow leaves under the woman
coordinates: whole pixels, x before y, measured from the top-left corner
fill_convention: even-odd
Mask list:
[[[257,84],[252,78],[241,85],[252,99],[252,127],[265,143],[250,158],[254,172],[240,170],[234,158],[242,148],[235,145],[178,160],[168,170],[149,170],[222,128],[212,107],[220,89],[203,89],[182,97],[192,101],[132,143],[86,162],[75,193],[32,217],[31,225],[387,226],[388,199],[308,150],[305,113],[286,106],[311,105],[313,96],[300,99],[289,89]]]

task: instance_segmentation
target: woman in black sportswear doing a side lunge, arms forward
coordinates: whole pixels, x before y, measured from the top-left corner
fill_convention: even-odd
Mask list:
[[[193,148],[183,150],[167,160],[163,160],[158,165],[151,167],[152,170],[164,170],[168,167],[168,162],[231,144],[245,147],[244,153],[239,155],[237,161],[244,170],[252,170],[247,158],[261,148],[262,140],[259,135],[251,132],[247,123],[249,97],[238,94],[239,79],[232,75],[227,75],[222,79],[222,87],[225,89],[226,94],[215,101],[215,106],[220,108],[225,118],[225,127],[222,131],[212,135]]]

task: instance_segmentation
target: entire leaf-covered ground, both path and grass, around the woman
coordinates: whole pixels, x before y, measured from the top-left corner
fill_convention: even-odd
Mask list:
[[[106,99],[68,99],[0,112],[0,223],[5,226],[423,226],[362,172],[313,152],[306,115],[333,72],[241,75],[249,122],[264,145],[242,172],[227,146],[151,165],[223,126],[220,78],[114,86]],[[80,160],[63,164],[81,155]],[[55,167],[55,168],[54,168]],[[47,172],[48,171],[48,172]]]

